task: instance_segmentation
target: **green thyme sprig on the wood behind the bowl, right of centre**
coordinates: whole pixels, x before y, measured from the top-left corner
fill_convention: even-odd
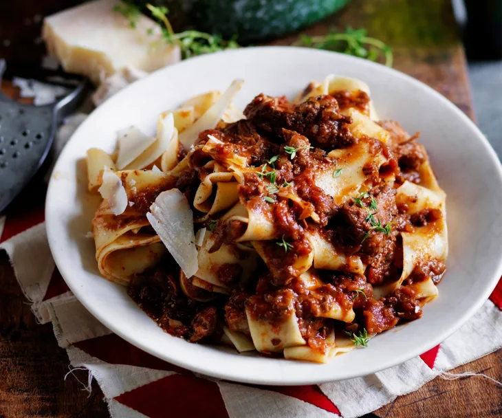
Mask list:
[[[293,45],[342,52],[370,61],[383,61],[387,67],[393,65],[392,49],[380,39],[371,38],[365,29],[352,29],[345,32],[329,32],[322,36],[301,35]]]

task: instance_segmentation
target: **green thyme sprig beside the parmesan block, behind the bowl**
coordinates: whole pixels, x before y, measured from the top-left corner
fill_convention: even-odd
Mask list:
[[[208,34],[199,32],[198,30],[185,30],[175,33],[169,19],[167,19],[168,9],[165,7],[155,7],[149,3],[146,4],[155,19],[162,23],[162,34],[164,39],[172,45],[178,45],[182,58],[190,58],[191,56],[209,54],[223,50],[232,50],[239,47],[235,39],[228,41],[216,34]]]

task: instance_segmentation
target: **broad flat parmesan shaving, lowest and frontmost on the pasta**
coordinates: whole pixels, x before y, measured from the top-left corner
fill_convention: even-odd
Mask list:
[[[197,248],[193,232],[193,213],[185,195],[177,188],[160,193],[146,214],[152,228],[182,268],[186,277],[197,272]]]

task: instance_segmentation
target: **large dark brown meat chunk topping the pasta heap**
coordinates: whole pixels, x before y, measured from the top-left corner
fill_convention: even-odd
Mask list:
[[[349,132],[351,118],[342,115],[331,96],[309,98],[293,106],[283,99],[260,94],[244,110],[245,116],[261,131],[281,136],[283,128],[306,136],[313,146],[331,150],[353,144]]]

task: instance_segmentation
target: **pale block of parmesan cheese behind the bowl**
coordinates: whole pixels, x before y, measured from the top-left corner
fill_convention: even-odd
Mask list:
[[[46,17],[42,36],[66,72],[95,84],[123,67],[152,72],[181,59],[179,48],[162,41],[159,25],[140,14],[129,21],[113,11],[118,0],[89,1]]]

